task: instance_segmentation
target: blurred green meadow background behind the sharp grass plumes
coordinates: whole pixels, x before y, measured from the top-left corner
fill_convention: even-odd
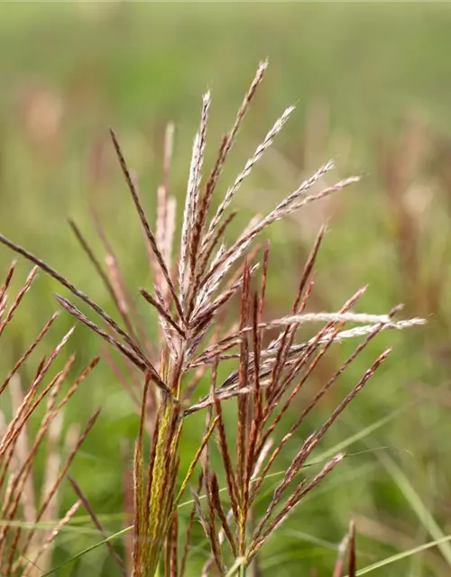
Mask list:
[[[140,227],[108,140],[109,125],[140,176],[153,220],[166,124],[176,125],[170,188],[181,204],[202,94],[207,87],[212,91],[207,140],[207,160],[212,160],[258,62],[268,58],[270,68],[216,202],[291,104],[297,108],[290,123],[236,197],[240,225],[255,207],[270,210],[329,158],[337,168],[328,179],[364,175],[341,196],[272,227],[268,314],[290,310],[308,248],[329,218],[313,295],[318,310],[336,310],[368,283],[358,310],[385,313],[403,302],[406,316],[427,316],[428,326],[380,335],[301,430],[308,435],[320,425],[373,358],[393,344],[390,361],[345,411],[318,459],[359,433],[362,438],[347,451],[365,453],[346,459],[272,536],[260,560],[264,575],[310,575],[314,568],[318,575],[331,574],[350,517],[356,522],[361,567],[451,533],[450,26],[446,3],[36,2],[0,7],[0,230],[64,272],[108,311],[114,309],[69,231],[68,216],[100,248],[88,214],[89,206],[96,206],[129,287],[152,286]],[[0,249],[3,270],[11,258]],[[21,261],[23,275],[28,269]],[[57,308],[55,290],[60,289],[41,275],[3,339],[2,373]],[[148,315],[145,307],[143,314]],[[155,338],[154,319],[147,318]],[[41,354],[51,351],[71,323],[61,316]],[[299,407],[350,346],[328,355]],[[78,326],[69,349],[78,354],[79,370],[101,346]],[[83,424],[99,405],[102,415],[71,472],[113,533],[125,523],[124,469],[131,463],[127,448],[137,417],[106,362],[78,391],[66,426]],[[187,427],[187,463],[201,426],[193,418]],[[278,471],[290,463],[299,442],[289,445]],[[268,490],[271,494],[269,485]],[[69,489],[65,499],[67,504],[72,499]],[[207,558],[200,529],[196,535],[190,575],[198,575]],[[85,518],[60,536],[54,563],[98,540]],[[100,547],[58,574],[97,577],[116,571]],[[450,572],[451,544],[444,543],[373,574],[441,577]]]

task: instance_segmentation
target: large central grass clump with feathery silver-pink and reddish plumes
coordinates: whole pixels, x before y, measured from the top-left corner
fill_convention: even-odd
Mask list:
[[[261,237],[272,223],[310,203],[335,195],[359,179],[351,177],[333,186],[321,187],[324,175],[334,169],[333,162],[328,161],[271,212],[253,218],[235,241],[226,243],[226,232],[235,217],[235,212],[230,210],[235,194],[293,111],[290,107],[281,114],[226,189],[224,197],[218,203],[214,202],[229,152],[265,70],[266,63],[262,63],[244,96],[235,123],[220,143],[207,178],[203,173],[210,95],[204,96],[192,147],[179,237],[176,235],[176,198],[170,196],[169,191],[172,127],[168,127],[166,133],[163,181],[158,189],[155,225],[144,211],[137,179],[125,160],[115,132],[111,131],[153,273],[152,289],[141,288],[138,293],[158,314],[159,348],[155,348],[146,336],[146,327],[125,286],[119,262],[97,215],[93,214],[93,217],[106,249],[106,268],[78,225],[74,222],[70,225],[105,284],[120,321],[108,315],[49,264],[0,235],[2,243],[32,261],[84,302],[97,320],[82,313],[68,298],[56,296],[60,306],[71,316],[122,355],[131,377],[130,380],[124,377],[114,355],[106,351],[107,362],[118,380],[124,383],[140,414],[133,459],[133,541],[128,560],[133,577],[152,577],[161,571],[168,576],[184,574],[195,520],[203,527],[209,543],[210,558],[203,574],[244,575],[249,566],[257,563],[262,546],[299,502],[344,459],[345,454],[338,453],[312,475],[305,467],[329,428],[386,361],[390,349],[374,359],[324,424],[311,431],[300,444],[276,485],[266,512],[258,515],[256,501],[285,445],[377,334],[423,322],[419,318],[396,320],[400,307],[393,307],[388,314],[382,315],[354,312],[365,288],[356,290],[337,311],[308,312],[308,299],[314,285],[313,270],[325,226],[318,231],[286,316],[267,317],[265,301],[271,249],[270,243],[256,244],[257,237]],[[235,306],[237,301],[238,307]],[[231,316],[235,320],[228,323]],[[307,324],[319,325],[319,329],[311,338],[299,341],[298,329]],[[345,327],[349,324],[351,326]],[[354,352],[308,403],[300,409],[298,405],[295,422],[290,428],[284,428],[283,417],[328,349],[350,339],[358,340]],[[206,380],[209,390],[202,397],[200,391]],[[235,399],[235,404],[232,403],[236,408],[233,431],[226,427],[224,408],[227,399]],[[180,436],[183,427],[189,426],[190,416],[199,411],[205,413],[204,433],[188,471],[179,475]],[[145,449],[146,435],[150,436],[149,450]],[[274,442],[276,438],[277,443]],[[212,444],[213,440],[216,444]],[[217,451],[216,447],[223,463],[223,472],[219,475],[213,471],[210,460],[210,453]],[[193,481],[195,474],[197,481]],[[220,491],[223,481],[226,493]],[[192,511],[182,536],[179,535],[178,507],[188,491]],[[348,544],[350,554],[345,568]],[[353,524],[340,547],[334,575],[338,577],[346,572],[349,575],[355,572]]]

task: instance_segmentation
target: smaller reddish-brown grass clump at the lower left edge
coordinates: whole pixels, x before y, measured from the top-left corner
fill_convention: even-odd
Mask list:
[[[32,269],[23,289],[8,307],[8,291],[14,270],[15,262],[0,286],[0,337],[12,322],[38,273],[37,267]],[[2,403],[3,410],[0,411],[0,574],[5,577],[37,576],[50,569],[56,536],[83,504],[83,500],[78,499],[58,520],[61,482],[96,422],[99,411],[81,432],[69,427],[64,450],[60,436],[63,433],[63,409],[97,365],[98,357],[89,362],[75,379],[69,379],[74,355],[69,356],[60,371],[54,371],[72,328],[48,356],[41,358],[26,388],[21,379],[24,363],[49,333],[57,317],[58,314],[51,316],[0,384],[2,401],[5,392],[9,392],[9,402]],[[70,380],[68,387],[66,383]],[[30,421],[35,414],[39,416],[38,426],[32,429]],[[45,463],[41,480],[37,474],[41,467],[36,466],[40,456]]]

